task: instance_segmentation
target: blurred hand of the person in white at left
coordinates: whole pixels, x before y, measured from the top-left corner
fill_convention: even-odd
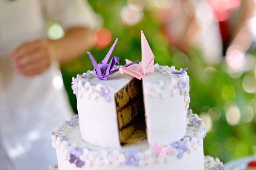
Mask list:
[[[22,44],[10,54],[15,70],[25,76],[34,76],[47,70],[52,61],[49,41],[36,40]]]

